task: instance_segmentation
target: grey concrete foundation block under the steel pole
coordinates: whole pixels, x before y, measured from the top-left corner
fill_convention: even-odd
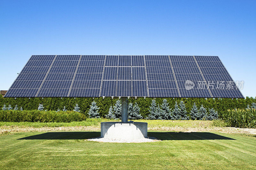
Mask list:
[[[146,122],[101,122],[100,135],[110,139],[139,139],[148,137]]]

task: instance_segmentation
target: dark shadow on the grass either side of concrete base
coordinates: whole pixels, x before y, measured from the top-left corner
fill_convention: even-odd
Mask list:
[[[47,132],[39,135],[23,137],[20,139],[90,139],[99,136],[100,132]],[[156,137],[160,140],[235,140],[210,132],[148,132],[148,136]]]

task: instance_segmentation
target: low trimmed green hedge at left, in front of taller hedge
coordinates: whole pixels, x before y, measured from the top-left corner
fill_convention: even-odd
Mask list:
[[[0,110],[0,122],[73,122],[86,116],[74,111]]]

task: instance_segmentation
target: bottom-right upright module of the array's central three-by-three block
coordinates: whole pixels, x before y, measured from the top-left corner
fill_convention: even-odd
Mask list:
[[[147,81],[132,80],[132,96],[148,97]]]

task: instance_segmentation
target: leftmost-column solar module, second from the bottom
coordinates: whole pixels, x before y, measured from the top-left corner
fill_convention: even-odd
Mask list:
[[[17,80],[15,80],[10,88],[11,89],[13,89],[13,88],[40,88],[42,83],[43,83],[43,80],[40,80],[40,81],[34,81],[34,80],[17,81]]]

